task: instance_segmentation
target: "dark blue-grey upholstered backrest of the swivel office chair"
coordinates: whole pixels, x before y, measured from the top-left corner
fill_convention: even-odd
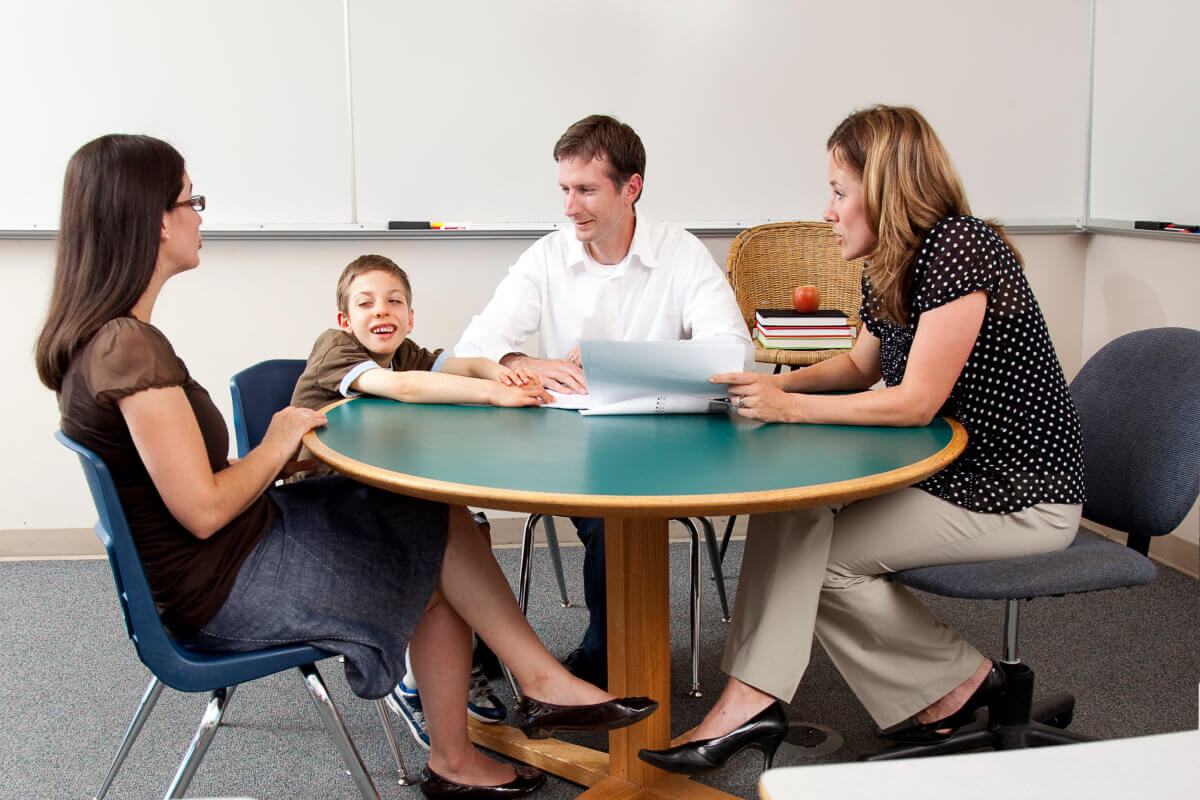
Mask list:
[[[1151,536],[1183,522],[1200,494],[1200,331],[1126,333],[1070,381],[1084,431],[1084,516]]]

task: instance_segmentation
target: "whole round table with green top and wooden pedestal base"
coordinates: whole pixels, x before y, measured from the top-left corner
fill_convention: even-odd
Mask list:
[[[608,753],[472,726],[479,744],[592,787],[588,796],[728,796],[637,758],[671,739],[667,522],[846,503],[920,481],[962,452],[953,420],[919,428],[746,425],[724,415],[582,416],[361,397],[305,435],[356,480],[485,509],[605,517],[608,691],[659,700]]]

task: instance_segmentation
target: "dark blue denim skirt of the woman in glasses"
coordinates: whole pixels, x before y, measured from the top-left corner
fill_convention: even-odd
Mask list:
[[[193,637],[199,650],[307,643],[346,656],[359,697],[404,675],[404,648],[442,571],[448,509],[340,475],[266,491],[278,513],[224,604]]]

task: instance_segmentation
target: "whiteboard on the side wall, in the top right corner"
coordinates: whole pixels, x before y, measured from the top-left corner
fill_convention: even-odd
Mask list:
[[[1200,224],[1200,4],[1097,0],[1091,216]]]

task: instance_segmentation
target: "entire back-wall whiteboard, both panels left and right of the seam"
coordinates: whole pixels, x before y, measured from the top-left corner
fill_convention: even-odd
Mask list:
[[[590,113],[642,136],[650,216],[815,218],[829,131],[875,102],[926,114],[977,213],[1061,223],[1084,213],[1088,14],[1088,0],[6,2],[0,228],[55,228],[67,158],[109,132],[175,144],[209,230],[556,222],[551,150]]]

